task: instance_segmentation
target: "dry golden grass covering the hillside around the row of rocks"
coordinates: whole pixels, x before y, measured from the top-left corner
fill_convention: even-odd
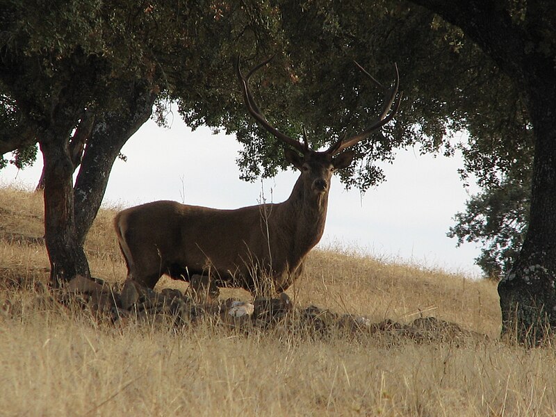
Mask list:
[[[99,213],[92,274],[126,269]],[[496,284],[350,250],[311,252],[288,294],[380,322],[434,316],[488,338],[243,334],[99,321],[44,293],[42,196],[0,189],[0,416],[555,416],[556,351],[500,341]],[[22,282],[22,285],[9,284]],[[184,288],[161,279],[156,289]],[[243,291],[220,297],[250,298]]]

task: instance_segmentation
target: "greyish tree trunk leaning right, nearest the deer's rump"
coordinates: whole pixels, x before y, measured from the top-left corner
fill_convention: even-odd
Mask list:
[[[152,115],[156,95],[130,87],[128,111],[108,112],[95,124],[75,184],[76,238],[83,246],[97,217],[112,165],[127,140]]]

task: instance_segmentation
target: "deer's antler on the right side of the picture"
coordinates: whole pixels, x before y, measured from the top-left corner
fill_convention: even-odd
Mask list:
[[[332,155],[338,154],[339,152],[342,152],[343,149],[355,145],[357,142],[360,142],[361,140],[367,138],[372,131],[379,129],[380,127],[384,126],[384,124],[390,122],[390,120],[393,119],[395,113],[398,111],[398,108],[400,108],[400,102],[402,101],[402,92],[400,92],[400,95],[398,95],[398,87],[400,86],[400,74],[398,73],[398,65],[394,65],[395,83],[392,88],[388,89],[385,88],[381,83],[379,83],[356,61],[354,61],[354,63],[355,65],[357,65],[357,67],[359,67],[359,70],[363,71],[363,74],[366,74],[366,76],[368,76],[373,81],[373,83],[375,83],[380,88],[382,88],[382,90],[384,90],[384,97],[385,97],[384,106],[382,106],[382,113],[380,114],[380,117],[377,120],[375,120],[375,122],[370,124],[370,126],[368,126],[367,129],[359,133],[359,135],[352,136],[351,138],[346,140],[345,138],[347,136],[346,134],[345,136],[343,136],[343,138],[338,139],[338,141],[334,143],[334,145],[332,145],[332,147],[330,147],[326,151],[327,153]],[[396,99],[396,95],[398,95],[397,99]],[[394,105],[392,112],[388,114],[390,109],[392,108],[392,104]]]

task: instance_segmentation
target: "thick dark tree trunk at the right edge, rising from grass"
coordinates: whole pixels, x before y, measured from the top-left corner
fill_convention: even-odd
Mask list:
[[[536,343],[556,328],[556,71],[535,61],[528,82],[535,149],[528,233],[498,284],[502,334]],[[544,71],[543,71],[544,70]]]

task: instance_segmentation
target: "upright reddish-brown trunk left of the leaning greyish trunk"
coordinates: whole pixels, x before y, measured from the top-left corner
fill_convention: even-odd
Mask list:
[[[54,286],[76,275],[90,277],[85,252],[76,240],[74,170],[66,138],[56,136],[40,142],[44,158],[44,241]]]

